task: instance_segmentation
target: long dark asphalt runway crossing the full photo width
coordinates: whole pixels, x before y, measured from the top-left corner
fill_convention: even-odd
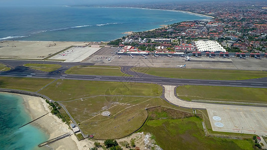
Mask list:
[[[11,77],[35,77],[35,78],[57,78],[57,79],[77,79],[77,80],[99,80],[99,81],[119,81],[119,82],[142,82],[164,85],[214,85],[233,87],[257,87],[267,88],[266,78],[253,80],[205,80],[205,79],[179,79],[168,77],[142,77],[142,76],[104,76],[104,75],[80,75],[80,74],[60,74],[45,72],[0,72],[0,76]]]

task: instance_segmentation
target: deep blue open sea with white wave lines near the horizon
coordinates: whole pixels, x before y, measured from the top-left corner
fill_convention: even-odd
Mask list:
[[[0,6],[0,40],[110,41],[208,17],[185,12],[91,6]]]

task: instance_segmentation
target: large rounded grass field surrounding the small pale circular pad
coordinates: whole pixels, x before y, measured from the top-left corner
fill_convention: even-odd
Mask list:
[[[127,136],[145,121],[145,107],[168,104],[158,97],[143,97],[162,93],[161,86],[147,83],[57,80],[40,93],[64,104],[83,132],[97,139]],[[107,109],[111,116],[102,116]]]

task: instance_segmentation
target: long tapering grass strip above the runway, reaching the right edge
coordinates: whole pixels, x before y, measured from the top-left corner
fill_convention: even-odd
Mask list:
[[[143,72],[156,76],[191,78],[191,79],[217,79],[217,80],[240,80],[258,77],[266,77],[266,71],[250,70],[224,70],[224,69],[190,69],[190,68],[156,68],[134,67],[133,71]]]

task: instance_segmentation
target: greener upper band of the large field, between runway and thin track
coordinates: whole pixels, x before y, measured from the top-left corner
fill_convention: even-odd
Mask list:
[[[62,79],[40,92],[53,100],[65,101],[93,95],[159,96],[162,93],[162,87],[149,83]]]

